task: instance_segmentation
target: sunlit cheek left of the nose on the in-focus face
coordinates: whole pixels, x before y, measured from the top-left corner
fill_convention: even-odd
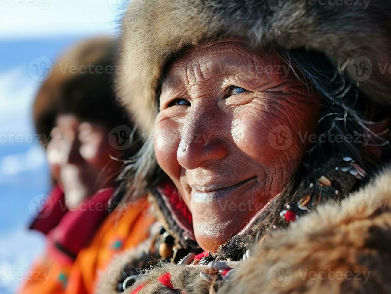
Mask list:
[[[154,150],[159,166],[172,178],[179,180],[181,166],[176,154],[181,141],[180,125],[170,119],[154,127]]]

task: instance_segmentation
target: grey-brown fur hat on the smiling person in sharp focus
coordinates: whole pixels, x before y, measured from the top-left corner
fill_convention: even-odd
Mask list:
[[[391,104],[391,75],[382,73],[391,55],[391,2],[341,6],[290,0],[280,10],[273,2],[133,0],[122,20],[120,53],[120,64],[131,71],[118,75],[117,92],[140,128],[152,131],[156,90],[170,57],[185,46],[221,37],[239,37],[251,48],[325,52],[351,76],[365,57],[372,73],[359,86],[377,103]]]

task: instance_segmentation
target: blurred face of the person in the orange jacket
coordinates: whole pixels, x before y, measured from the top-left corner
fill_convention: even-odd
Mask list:
[[[80,121],[72,114],[57,117],[47,157],[67,205],[80,203],[103,186],[114,187],[108,165],[113,161],[109,154],[115,155],[115,150],[107,134],[102,125]]]

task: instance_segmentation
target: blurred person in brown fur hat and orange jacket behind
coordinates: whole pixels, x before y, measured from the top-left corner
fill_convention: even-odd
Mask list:
[[[138,149],[113,93],[115,45],[97,37],[70,48],[36,96],[34,120],[50,139],[43,145],[54,187],[30,226],[47,235],[47,249],[20,293],[91,293],[115,253],[149,237],[147,200],[113,201],[120,159]]]

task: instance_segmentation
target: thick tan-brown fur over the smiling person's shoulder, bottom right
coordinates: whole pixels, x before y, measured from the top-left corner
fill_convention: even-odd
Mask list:
[[[271,233],[219,293],[391,292],[391,170]]]

